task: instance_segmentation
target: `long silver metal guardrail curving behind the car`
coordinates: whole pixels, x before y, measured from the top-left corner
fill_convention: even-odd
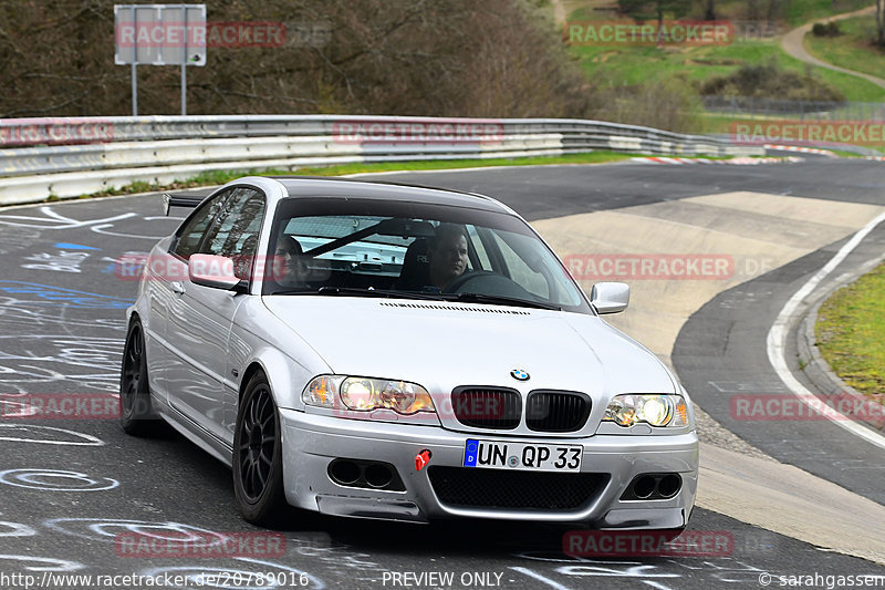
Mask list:
[[[611,149],[757,155],[759,146],[583,120],[360,115],[79,117],[0,121],[0,204],[73,197],[215,169],[560,155]]]

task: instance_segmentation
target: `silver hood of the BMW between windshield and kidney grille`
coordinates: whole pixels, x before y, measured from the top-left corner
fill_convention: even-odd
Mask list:
[[[673,393],[667,369],[600,318],[583,313],[342,296],[269,296],[264,304],[332,372],[459,385]],[[511,375],[529,373],[521,382]]]

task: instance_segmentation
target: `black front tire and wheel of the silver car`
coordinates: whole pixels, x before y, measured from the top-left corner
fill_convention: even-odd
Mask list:
[[[280,413],[263,373],[249,380],[237,411],[233,494],[242,517],[256,525],[268,526],[287,509]]]

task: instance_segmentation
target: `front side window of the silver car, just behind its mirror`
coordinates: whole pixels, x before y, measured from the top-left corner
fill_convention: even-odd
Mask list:
[[[248,280],[263,217],[263,195],[247,187],[235,188],[221,218],[207,232],[200,253],[232,258],[237,277]]]

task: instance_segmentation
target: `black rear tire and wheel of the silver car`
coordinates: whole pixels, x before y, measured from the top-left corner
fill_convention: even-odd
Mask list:
[[[150,403],[147,351],[142,322],[133,319],[123,349],[119,370],[119,425],[127,434],[144,436],[157,429],[158,418]]]

